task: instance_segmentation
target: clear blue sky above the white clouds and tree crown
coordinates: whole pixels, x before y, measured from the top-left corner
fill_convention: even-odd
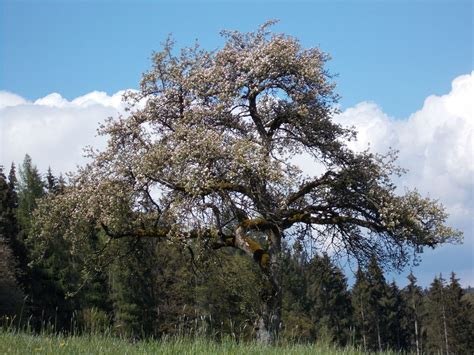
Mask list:
[[[222,45],[222,29],[277,31],[333,60],[342,107],[377,102],[403,118],[472,61],[471,1],[0,1],[0,89],[36,99],[136,87],[150,54]]]

